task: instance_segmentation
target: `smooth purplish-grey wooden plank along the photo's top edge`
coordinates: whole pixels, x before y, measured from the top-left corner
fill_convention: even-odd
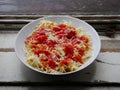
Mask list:
[[[119,0],[0,0],[0,14],[120,14]]]

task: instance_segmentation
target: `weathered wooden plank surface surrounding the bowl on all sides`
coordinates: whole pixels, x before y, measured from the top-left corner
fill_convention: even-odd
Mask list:
[[[119,0],[0,1],[0,90],[119,89],[118,2]],[[17,58],[14,43],[19,30],[30,21],[51,14],[70,15],[85,20],[97,30],[102,43],[101,52],[90,66],[71,75],[49,76],[32,71]]]

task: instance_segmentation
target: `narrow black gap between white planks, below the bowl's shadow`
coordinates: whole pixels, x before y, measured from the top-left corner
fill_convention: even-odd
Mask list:
[[[79,87],[98,87],[98,86],[120,86],[120,83],[115,82],[104,82],[104,81],[95,81],[95,82],[76,82],[76,81],[56,81],[56,82],[0,82],[0,86],[79,86]]]

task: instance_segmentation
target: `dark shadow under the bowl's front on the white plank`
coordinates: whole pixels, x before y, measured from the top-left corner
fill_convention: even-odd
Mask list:
[[[59,83],[59,82],[90,82],[93,81],[94,74],[96,72],[95,62],[89,65],[87,68],[69,75],[46,75],[39,72],[33,71],[21,64],[21,71],[23,73],[23,78],[27,82],[49,82],[49,83]]]

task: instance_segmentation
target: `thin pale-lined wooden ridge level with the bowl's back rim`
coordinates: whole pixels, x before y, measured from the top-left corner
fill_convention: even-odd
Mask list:
[[[48,15],[1,15],[0,19],[37,19]],[[95,20],[95,19],[120,19],[120,15],[81,15],[73,14],[70,15],[76,18],[85,19],[85,20]]]

